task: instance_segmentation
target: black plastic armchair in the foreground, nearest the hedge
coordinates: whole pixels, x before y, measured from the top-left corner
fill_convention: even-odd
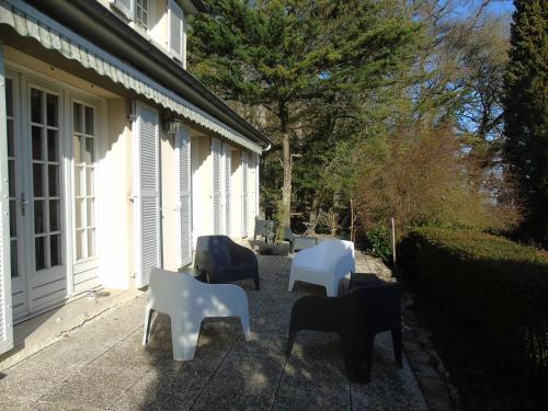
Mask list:
[[[369,380],[375,335],[391,331],[396,362],[402,366],[401,307],[398,284],[357,287],[344,297],[307,296],[292,309],[287,356],[300,330],[339,333],[346,374],[353,381]],[[364,368],[365,365],[365,368]]]

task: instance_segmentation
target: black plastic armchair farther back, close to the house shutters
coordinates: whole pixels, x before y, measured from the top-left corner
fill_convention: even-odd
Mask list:
[[[227,236],[203,236],[196,242],[194,267],[208,283],[225,284],[253,278],[259,289],[259,264],[255,253]]]

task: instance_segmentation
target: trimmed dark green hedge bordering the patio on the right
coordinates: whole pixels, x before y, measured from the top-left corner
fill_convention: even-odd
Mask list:
[[[483,232],[422,228],[401,242],[399,264],[473,330],[488,364],[548,401],[548,252]]]

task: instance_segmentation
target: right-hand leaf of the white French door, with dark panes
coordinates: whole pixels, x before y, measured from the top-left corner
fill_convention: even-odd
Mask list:
[[[28,95],[31,183],[22,195],[32,208],[28,214],[32,309],[62,300],[67,295],[67,278],[61,219],[60,98],[37,87],[30,87]]]

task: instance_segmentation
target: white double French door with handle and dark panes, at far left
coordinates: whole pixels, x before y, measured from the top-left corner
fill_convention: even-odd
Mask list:
[[[67,295],[59,92],[7,76],[13,316]]]

